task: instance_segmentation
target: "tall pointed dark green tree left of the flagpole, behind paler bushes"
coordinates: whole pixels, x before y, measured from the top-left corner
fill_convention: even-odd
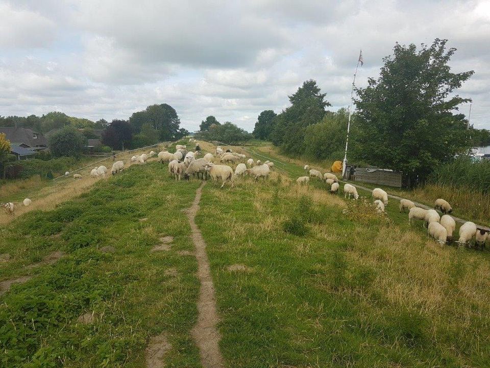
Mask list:
[[[304,149],[306,127],[318,123],[325,116],[325,100],[316,81],[303,82],[295,94],[289,96],[291,106],[283,110],[273,120],[274,128],[270,134],[272,143],[286,153],[301,154]]]

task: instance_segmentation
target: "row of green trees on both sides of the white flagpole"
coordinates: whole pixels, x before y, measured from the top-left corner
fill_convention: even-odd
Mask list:
[[[490,144],[490,132],[471,126],[458,106],[471,101],[455,93],[473,71],[453,73],[456,52],[447,40],[395,44],[377,79],[356,88],[348,161],[406,173],[412,182],[474,146]],[[262,111],[254,136],[282,152],[316,159],[344,158],[348,111],[328,111],[327,94],[308,80],[276,114]]]

